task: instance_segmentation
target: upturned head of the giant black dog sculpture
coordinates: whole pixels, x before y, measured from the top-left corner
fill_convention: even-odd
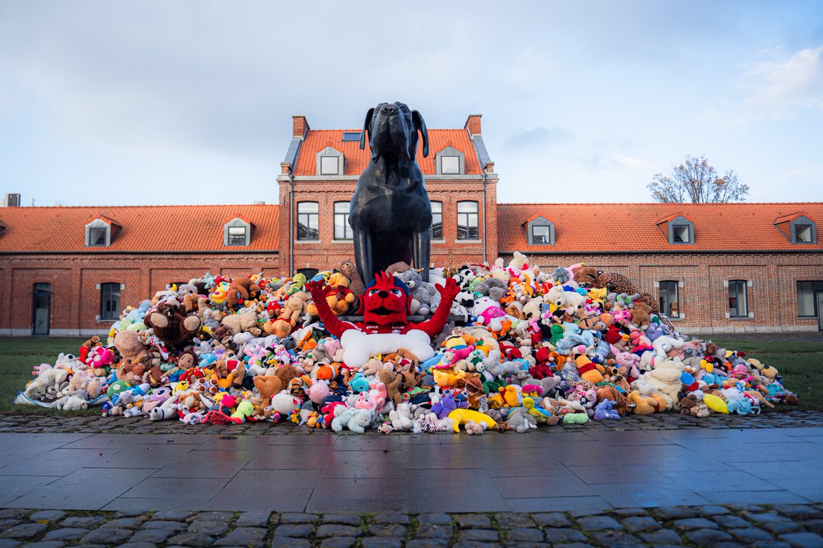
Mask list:
[[[370,108],[365,114],[363,132],[360,133],[360,149],[365,149],[365,134],[369,132],[371,161],[381,157],[415,160],[417,154],[417,131],[423,137],[423,157],[429,155],[429,131],[423,117],[406,104],[381,103]]]

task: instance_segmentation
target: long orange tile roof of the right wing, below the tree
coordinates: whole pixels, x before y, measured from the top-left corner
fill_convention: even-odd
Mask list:
[[[501,253],[570,251],[819,251],[816,244],[793,244],[773,222],[802,210],[823,223],[823,202],[742,204],[499,204],[498,247]],[[545,213],[544,213],[545,212]],[[695,224],[695,243],[668,243],[659,219],[675,212]],[[536,214],[555,223],[554,246],[528,246],[523,223]]]

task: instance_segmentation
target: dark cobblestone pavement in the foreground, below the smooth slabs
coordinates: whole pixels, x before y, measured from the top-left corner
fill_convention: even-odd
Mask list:
[[[0,510],[6,546],[823,546],[823,504],[609,513],[267,513]]]

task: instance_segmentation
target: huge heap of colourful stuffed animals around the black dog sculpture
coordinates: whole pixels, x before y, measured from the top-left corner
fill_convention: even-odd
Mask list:
[[[430,280],[398,264],[364,283],[351,261],[312,279],[205,274],[126,308],[108,340],[36,366],[16,403],[469,434],[797,403],[774,367],[687,340],[621,274],[516,253]]]

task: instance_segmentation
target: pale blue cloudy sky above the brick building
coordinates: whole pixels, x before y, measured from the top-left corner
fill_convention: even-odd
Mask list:
[[[387,5],[388,4],[388,5]],[[501,202],[649,201],[686,155],[823,200],[823,2],[0,2],[0,193],[277,201],[291,116],[481,113]]]

